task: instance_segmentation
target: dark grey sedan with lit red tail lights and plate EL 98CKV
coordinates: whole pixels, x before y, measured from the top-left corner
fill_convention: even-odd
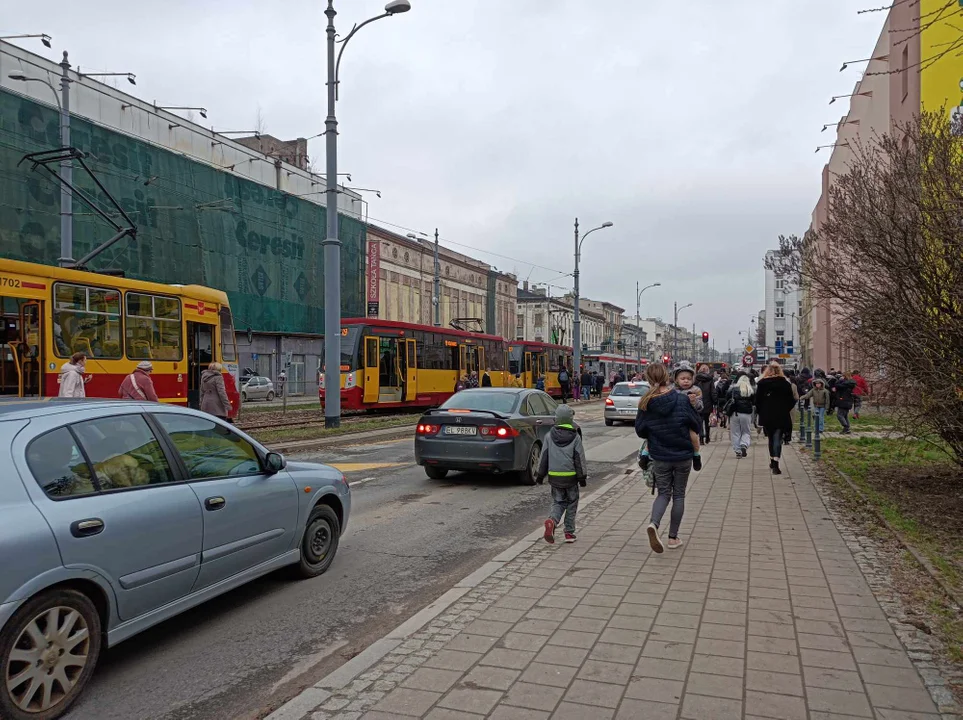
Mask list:
[[[415,429],[415,462],[441,480],[451,470],[518,473],[535,483],[545,436],[557,403],[541,390],[462,390],[429,410]]]

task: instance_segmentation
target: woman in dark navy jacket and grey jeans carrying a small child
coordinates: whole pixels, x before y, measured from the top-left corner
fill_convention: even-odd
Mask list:
[[[652,464],[658,495],[652,503],[652,522],[646,532],[652,550],[661,553],[682,547],[679,526],[685,513],[685,490],[689,473],[702,469],[699,455],[699,430],[702,420],[689,399],[669,382],[669,373],[661,363],[649,365],[645,371],[649,389],[639,402],[635,416],[635,433],[646,441],[639,456],[643,471]],[[669,540],[659,537],[662,516],[672,502],[669,517]]]

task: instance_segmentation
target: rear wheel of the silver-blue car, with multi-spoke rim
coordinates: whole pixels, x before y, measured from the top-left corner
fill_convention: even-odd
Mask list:
[[[100,616],[86,595],[54,590],[26,603],[0,636],[0,716],[51,720],[66,712],[100,646]]]

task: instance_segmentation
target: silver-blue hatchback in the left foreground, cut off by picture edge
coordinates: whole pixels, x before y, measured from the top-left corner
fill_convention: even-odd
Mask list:
[[[105,647],[272,570],[334,560],[351,492],[217,418],[0,402],[0,717],[52,720]]]

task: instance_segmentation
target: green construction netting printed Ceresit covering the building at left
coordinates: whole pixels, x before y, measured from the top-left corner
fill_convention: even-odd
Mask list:
[[[71,117],[71,145],[137,225],[90,263],[131,278],[225,290],[239,329],[320,333],[324,326],[324,208]],[[0,91],[0,255],[56,265],[60,188],[17,163],[59,147],[56,108]],[[74,169],[74,183],[98,191]],[[112,211],[106,201],[101,208]],[[74,257],[114,233],[74,202]],[[364,225],[341,216],[341,311],[362,316]]]

